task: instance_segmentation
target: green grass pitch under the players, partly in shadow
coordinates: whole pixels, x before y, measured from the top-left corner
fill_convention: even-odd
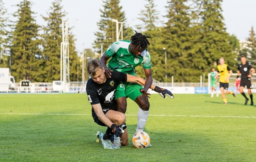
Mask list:
[[[94,134],[106,127],[93,122],[86,94],[0,94],[0,161],[256,160],[256,107],[243,105],[240,94],[227,95],[228,105],[223,105],[221,97],[206,94],[174,97],[151,96],[153,116],[148,117],[144,131],[152,147],[146,149],[132,145],[138,106],[128,99],[129,144],[108,150],[95,142]]]

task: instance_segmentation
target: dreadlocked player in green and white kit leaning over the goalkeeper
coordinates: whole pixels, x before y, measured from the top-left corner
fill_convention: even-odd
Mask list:
[[[144,88],[136,83],[120,82],[115,92],[117,111],[122,113],[126,112],[126,97],[129,97],[139,105],[140,108],[138,111],[138,124],[136,132],[143,131],[148,119],[150,108],[148,97],[145,96],[145,92],[148,91],[153,81],[150,54],[147,51],[150,43],[148,42],[147,38],[150,38],[150,36],[145,36],[136,32],[135,35],[131,36],[131,41],[120,40],[114,42],[110,47],[108,47],[104,55],[102,55],[100,58],[100,63],[105,69],[105,75],[109,78],[111,78],[111,72],[113,70],[135,75],[135,67],[139,66],[140,64],[143,65],[146,76]],[[111,60],[109,60],[108,66],[106,66],[106,62],[110,58]],[[166,96],[164,96],[164,98],[165,97]],[[173,96],[171,96],[171,98],[173,98]]]

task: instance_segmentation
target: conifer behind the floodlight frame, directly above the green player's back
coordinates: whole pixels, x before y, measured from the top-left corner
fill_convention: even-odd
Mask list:
[[[116,23],[112,22],[112,19],[117,19],[119,22],[125,22],[125,13],[122,10],[122,6],[119,6],[120,0],[105,0],[103,1],[103,10],[100,21],[97,23],[98,32],[95,32],[97,37],[94,40],[93,48],[98,53],[101,51],[101,43],[103,43],[103,50],[106,50],[112,43],[116,41]],[[120,28],[120,25],[119,25]],[[124,40],[130,40],[130,36],[133,35],[133,31],[126,23],[123,26],[123,38]],[[119,37],[121,39],[121,36]]]

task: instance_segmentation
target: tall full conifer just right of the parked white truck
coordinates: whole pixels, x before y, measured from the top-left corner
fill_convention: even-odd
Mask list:
[[[26,79],[27,76],[32,82],[40,81],[40,26],[32,16],[35,13],[31,11],[30,1],[23,0],[17,6],[19,9],[13,16],[18,20],[14,22],[10,36],[11,72],[17,81]]]

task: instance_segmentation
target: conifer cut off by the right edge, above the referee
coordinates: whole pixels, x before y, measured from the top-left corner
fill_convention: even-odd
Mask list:
[[[247,62],[252,65],[253,68],[256,68],[256,37],[253,27],[249,31],[249,37],[245,43],[242,43],[242,49],[239,52],[239,64],[241,64],[240,57],[245,55]]]

